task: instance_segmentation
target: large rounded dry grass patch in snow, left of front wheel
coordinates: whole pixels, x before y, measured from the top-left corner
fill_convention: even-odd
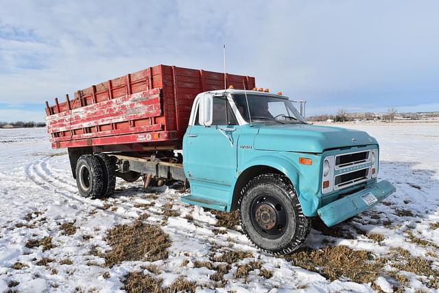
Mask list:
[[[130,225],[112,228],[106,236],[111,250],[99,253],[104,257],[106,266],[113,266],[122,261],[156,261],[166,259],[166,248],[171,246],[169,236],[160,226],[136,221]]]

